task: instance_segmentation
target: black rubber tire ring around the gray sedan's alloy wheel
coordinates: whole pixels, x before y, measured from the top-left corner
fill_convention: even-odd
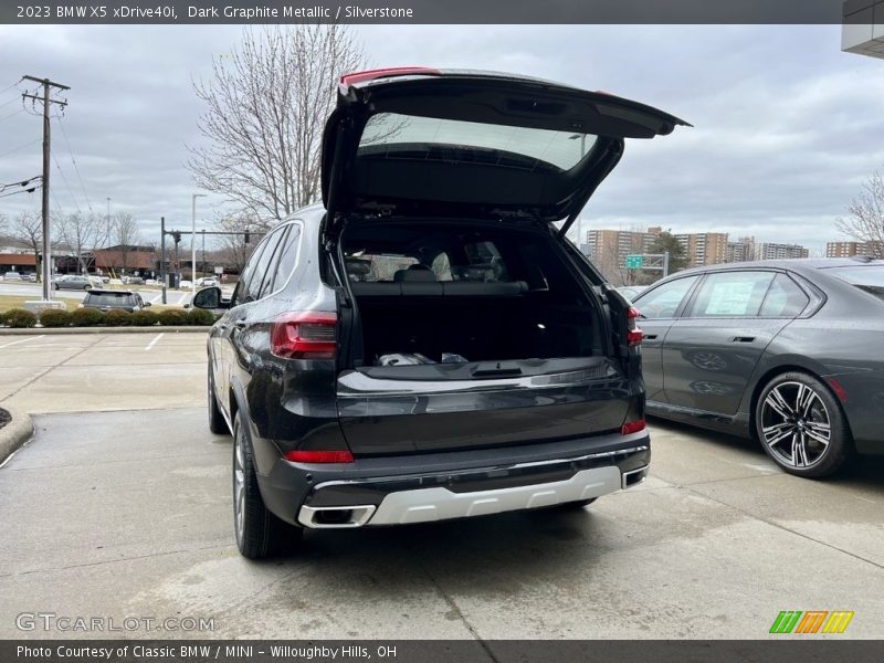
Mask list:
[[[831,430],[829,445],[823,452],[821,459],[814,462],[810,467],[794,467],[785,463],[768,446],[767,442],[765,442],[765,435],[761,430],[765,399],[775,387],[785,382],[799,382],[813,389],[822,404],[825,407],[825,411],[829,417]],[[838,472],[851,455],[853,444],[850,430],[846,424],[846,418],[844,417],[844,412],[841,410],[841,403],[838,402],[831,390],[821,380],[808,373],[790,371],[780,373],[770,379],[770,381],[765,385],[764,389],[761,389],[761,392],[758,396],[753,419],[753,432],[755,433],[759,444],[761,444],[761,448],[765,450],[765,453],[767,453],[767,455],[779,467],[789,474],[808,478],[829,476]]]

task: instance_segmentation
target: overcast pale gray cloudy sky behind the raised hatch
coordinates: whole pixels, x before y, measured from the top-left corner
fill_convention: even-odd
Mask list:
[[[632,140],[583,211],[583,230],[663,225],[820,250],[840,238],[863,181],[884,168],[884,61],[842,53],[839,25],[369,27],[377,66],[423,64],[536,75],[603,90],[692,123]],[[0,182],[41,170],[40,118],[22,110],[22,74],[71,86],[53,134],[62,210],[129,211],[147,240],[159,217],[190,223],[185,167],[199,141],[191,77],[234,48],[236,27],[0,27]],[[82,186],[70,148],[80,168]],[[10,152],[11,154],[7,154]],[[198,227],[221,206],[201,199]],[[0,199],[0,214],[39,209]]]

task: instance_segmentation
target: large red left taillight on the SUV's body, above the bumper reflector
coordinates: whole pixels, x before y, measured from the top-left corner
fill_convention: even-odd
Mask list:
[[[270,351],[283,359],[334,359],[337,322],[324,311],[284,313],[273,322]]]

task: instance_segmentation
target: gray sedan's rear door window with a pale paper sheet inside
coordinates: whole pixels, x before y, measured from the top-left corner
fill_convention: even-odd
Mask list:
[[[772,272],[718,272],[706,276],[691,317],[751,317],[774,281]]]

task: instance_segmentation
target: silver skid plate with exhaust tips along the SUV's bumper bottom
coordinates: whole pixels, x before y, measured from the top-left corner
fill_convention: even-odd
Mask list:
[[[600,497],[638,485],[648,476],[648,469],[644,465],[621,474],[619,467],[608,465],[581,470],[566,481],[473,493],[453,493],[444,487],[401,491],[387,495],[377,507],[302,506],[297,519],[304,527],[314,529],[346,528],[432,523],[555,506]]]

